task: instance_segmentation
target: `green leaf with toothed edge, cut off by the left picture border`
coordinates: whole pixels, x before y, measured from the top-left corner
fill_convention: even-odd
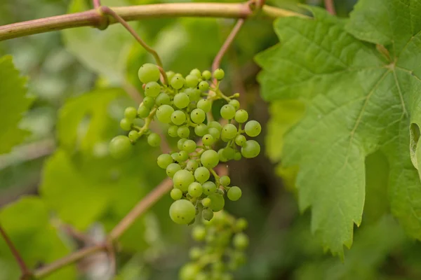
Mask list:
[[[27,97],[27,80],[15,69],[11,56],[0,58],[0,76],[1,154],[10,152],[27,136],[27,132],[20,130],[18,125],[32,104],[32,99]]]

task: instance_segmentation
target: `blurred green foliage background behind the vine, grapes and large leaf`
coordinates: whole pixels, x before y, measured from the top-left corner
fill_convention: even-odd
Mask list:
[[[172,0],[168,0],[172,1]],[[154,3],[109,0],[109,6]],[[323,1],[301,1],[323,6]],[[353,0],[335,1],[346,18]],[[270,5],[298,9],[298,1]],[[0,1],[0,25],[86,10],[84,0]],[[209,69],[234,20],[178,18],[131,22],[161,55],[167,70]],[[421,279],[421,246],[403,234],[387,214],[387,170],[381,153],[367,158],[367,197],[361,228],[342,262],[323,253],[309,230],[309,213],[300,214],[294,169],[279,165],[283,133],[302,114],[295,102],[267,104],[260,99],[253,57],[278,42],[268,20],[250,19],[222,62],[225,91],[241,92],[241,103],[265,124],[265,153],[229,164],[232,181],[243,188],[239,202],[226,209],[249,221],[248,264],[236,279]],[[83,246],[68,225],[101,240],[165,174],[155,165],[159,151],[139,144],[136,155],[116,162],[107,143],[122,134],[118,121],[142,93],[138,67],[152,62],[118,25],[106,31],[84,27],[0,42],[1,55],[29,76],[34,98],[20,127],[25,143],[0,155],[0,221],[25,260],[36,267]],[[0,81],[1,83],[1,81]],[[1,127],[1,125],[0,125]],[[159,129],[159,127],[157,127]],[[115,279],[176,279],[194,243],[189,228],[168,217],[169,195],[139,219],[121,239]],[[18,279],[19,269],[0,241],[0,280]],[[48,279],[113,279],[108,258],[99,253]]]

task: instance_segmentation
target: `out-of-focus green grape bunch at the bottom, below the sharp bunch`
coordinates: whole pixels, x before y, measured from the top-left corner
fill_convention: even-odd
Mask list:
[[[195,225],[192,237],[204,245],[190,249],[190,262],[180,269],[180,280],[233,279],[231,272],[246,261],[244,250],[249,242],[243,233],[246,227],[246,220],[236,220],[225,211],[203,225]]]

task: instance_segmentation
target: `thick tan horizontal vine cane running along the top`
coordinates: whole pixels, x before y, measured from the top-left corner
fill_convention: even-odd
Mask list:
[[[141,20],[145,18],[207,17],[207,18],[247,18],[253,15],[244,3],[159,3],[140,6],[110,7],[123,20]],[[272,6],[262,6],[261,14],[267,18],[288,16],[305,17],[300,13],[283,10]],[[116,19],[108,23],[116,23]],[[45,33],[73,27],[104,27],[102,15],[98,10],[86,10],[81,13],[57,15],[50,18],[17,22],[0,27],[0,41]]]

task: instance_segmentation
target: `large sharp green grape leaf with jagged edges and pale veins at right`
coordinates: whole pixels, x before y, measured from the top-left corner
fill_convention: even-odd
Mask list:
[[[319,8],[312,8],[314,19],[281,18],[275,22],[281,43],[256,57],[265,99],[305,102],[305,117],[286,135],[283,162],[299,165],[300,209],[312,207],[312,231],[340,256],[343,244],[352,245],[354,223],[361,223],[366,155],[379,149],[390,162],[392,211],[410,235],[421,238],[420,200],[413,198],[421,184],[409,151],[410,118],[421,86],[413,39],[417,17],[409,16],[401,1],[381,2],[389,8],[373,14],[370,7],[377,6],[361,1],[347,27]],[[421,13],[419,1],[410,2],[410,14]],[[385,20],[390,10],[396,15]],[[375,22],[372,34],[361,36],[370,43],[352,36],[359,35],[356,22],[364,15]],[[385,21],[392,33],[381,36],[385,31],[375,28]]]

